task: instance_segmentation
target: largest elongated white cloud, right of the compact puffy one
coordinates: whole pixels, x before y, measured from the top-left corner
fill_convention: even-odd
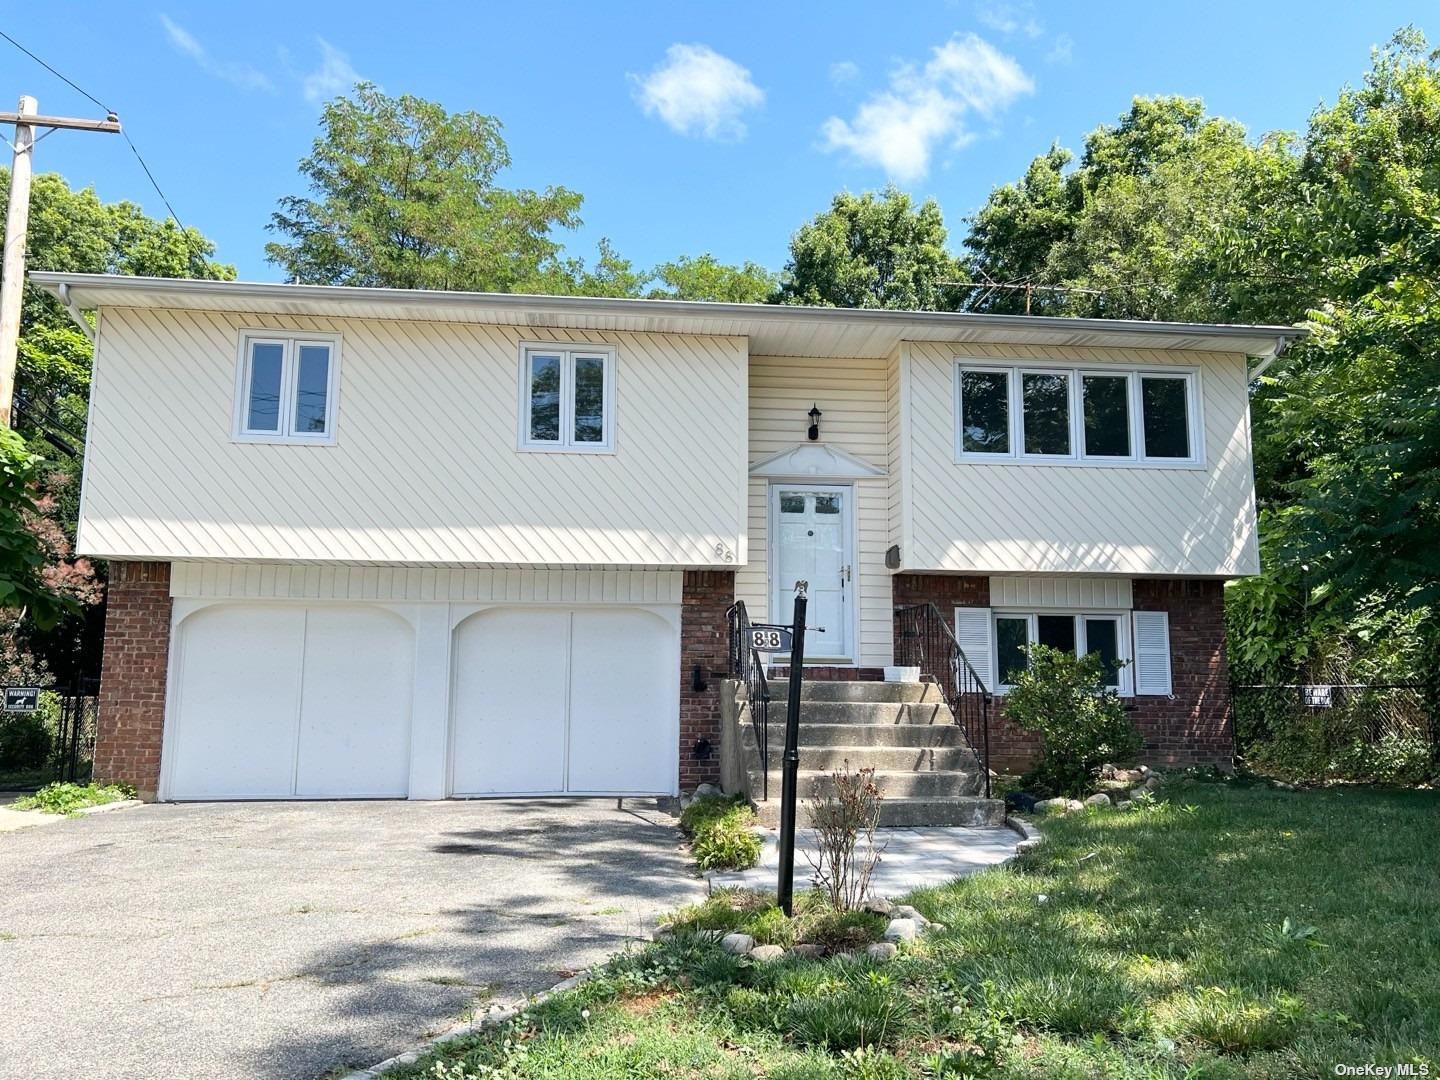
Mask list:
[[[973,33],[937,46],[922,68],[903,63],[890,86],[865,101],[852,120],[831,117],[821,128],[827,148],[880,166],[900,183],[922,179],[936,148],[959,148],[975,137],[971,112],[991,118],[1035,84],[1009,56]]]

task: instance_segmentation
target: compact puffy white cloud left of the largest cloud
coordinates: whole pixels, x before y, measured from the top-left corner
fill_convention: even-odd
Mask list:
[[[750,72],[707,45],[671,45],[664,63],[631,79],[645,115],[681,135],[744,138],[744,112],[765,102]]]

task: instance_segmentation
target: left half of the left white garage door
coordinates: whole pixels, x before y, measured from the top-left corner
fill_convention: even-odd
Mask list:
[[[297,608],[215,608],[181,624],[171,795],[294,792],[304,632]]]

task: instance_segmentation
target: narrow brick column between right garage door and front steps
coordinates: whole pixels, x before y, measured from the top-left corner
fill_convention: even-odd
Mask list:
[[[720,678],[730,668],[726,608],[734,603],[733,570],[685,570],[680,612],[680,788],[720,782]],[[696,665],[706,690],[694,688]],[[698,743],[708,756],[696,757]]]

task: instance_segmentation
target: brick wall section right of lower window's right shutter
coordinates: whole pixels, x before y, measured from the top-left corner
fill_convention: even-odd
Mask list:
[[[1130,714],[1156,765],[1234,765],[1225,662],[1225,583],[1136,579],[1135,611],[1169,613],[1171,697],[1133,697]]]

